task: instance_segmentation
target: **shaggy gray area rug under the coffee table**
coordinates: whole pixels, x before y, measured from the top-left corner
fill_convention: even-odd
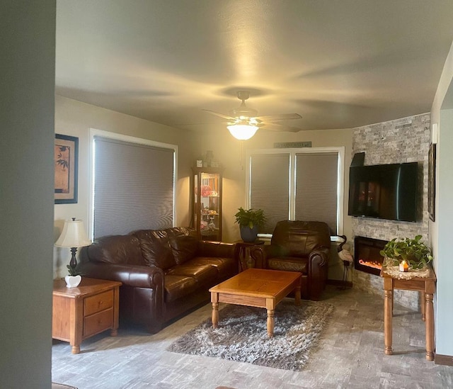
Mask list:
[[[333,305],[285,299],[275,309],[274,337],[266,332],[266,310],[226,305],[219,311],[219,328],[207,319],[177,339],[167,351],[215,356],[229,361],[301,371],[318,343]]]

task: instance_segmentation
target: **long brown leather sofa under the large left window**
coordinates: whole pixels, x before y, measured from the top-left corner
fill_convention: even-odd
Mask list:
[[[208,289],[238,273],[234,244],[197,239],[195,230],[139,230],[96,239],[81,250],[82,276],[122,282],[120,320],[151,333],[209,301]]]

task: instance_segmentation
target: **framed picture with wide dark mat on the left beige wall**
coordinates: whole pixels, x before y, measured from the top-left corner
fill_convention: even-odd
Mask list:
[[[55,204],[77,203],[79,138],[55,134]]]

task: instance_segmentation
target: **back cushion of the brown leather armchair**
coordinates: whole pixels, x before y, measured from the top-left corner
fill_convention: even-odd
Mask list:
[[[277,222],[271,244],[282,256],[308,256],[314,249],[331,247],[331,232],[325,222],[282,220]]]

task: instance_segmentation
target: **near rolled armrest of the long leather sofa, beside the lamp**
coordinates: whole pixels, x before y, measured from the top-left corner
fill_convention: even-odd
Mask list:
[[[154,266],[86,262],[78,269],[82,276],[120,281],[132,288],[164,288],[164,271]]]

